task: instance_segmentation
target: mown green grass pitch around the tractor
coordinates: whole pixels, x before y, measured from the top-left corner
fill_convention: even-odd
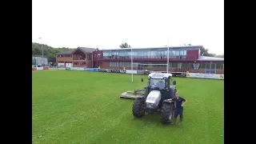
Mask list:
[[[134,100],[119,98],[146,86],[142,77],[131,83],[129,74],[32,71],[32,142],[224,143],[224,81],[174,78],[188,102],[182,126],[164,126],[160,114],[134,118]]]

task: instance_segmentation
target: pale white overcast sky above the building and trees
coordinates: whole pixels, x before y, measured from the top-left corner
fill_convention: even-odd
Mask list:
[[[99,49],[186,43],[224,54],[224,0],[33,0],[32,42]]]

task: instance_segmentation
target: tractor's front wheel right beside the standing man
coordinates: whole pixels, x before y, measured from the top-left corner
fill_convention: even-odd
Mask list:
[[[161,111],[161,122],[163,124],[170,124],[174,116],[174,103],[163,102]]]

